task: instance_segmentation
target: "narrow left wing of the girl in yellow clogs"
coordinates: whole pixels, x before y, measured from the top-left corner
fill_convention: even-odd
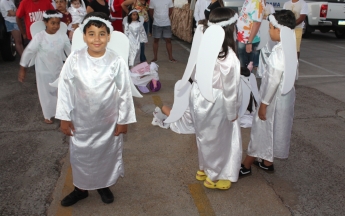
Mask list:
[[[203,29],[202,25],[198,25],[198,27],[196,28],[196,31],[195,31],[195,34],[193,37],[192,48],[191,48],[188,62],[187,62],[187,66],[186,66],[186,69],[184,71],[181,82],[178,86],[178,89],[182,89],[186,85],[186,83],[188,82],[189,78],[191,77],[191,75],[193,73],[193,70],[194,70],[195,65],[196,65],[196,60],[198,57],[201,39],[203,37],[202,29]]]

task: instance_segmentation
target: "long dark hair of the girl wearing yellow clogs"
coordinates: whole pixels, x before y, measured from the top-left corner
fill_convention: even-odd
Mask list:
[[[211,11],[209,22],[219,23],[222,21],[228,21],[231,17],[235,15],[235,11],[230,8],[216,8]],[[207,23],[204,23],[204,32],[208,28]],[[225,32],[224,42],[222,45],[222,50],[218,55],[219,59],[224,59],[229,53],[229,47],[236,53],[236,45],[234,39],[234,32],[236,31],[236,22],[231,25],[223,27]]]

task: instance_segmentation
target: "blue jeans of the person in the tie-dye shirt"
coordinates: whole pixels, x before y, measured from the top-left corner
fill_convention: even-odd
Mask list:
[[[237,43],[237,55],[241,62],[241,67],[247,67],[249,62],[253,62],[254,67],[259,66],[259,55],[260,50],[257,50],[256,48],[259,45],[259,42],[252,44],[252,52],[247,53],[246,52],[246,44],[241,43],[239,41],[236,41]]]

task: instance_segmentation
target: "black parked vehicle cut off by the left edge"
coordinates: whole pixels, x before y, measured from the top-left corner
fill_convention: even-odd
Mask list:
[[[17,56],[14,39],[11,32],[7,32],[5,20],[0,13],[0,53],[4,61],[14,61]]]

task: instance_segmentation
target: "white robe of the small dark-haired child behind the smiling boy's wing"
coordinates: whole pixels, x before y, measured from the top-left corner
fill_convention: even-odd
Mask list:
[[[147,43],[147,35],[142,22],[132,21],[125,25],[125,35],[129,39],[128,65],[140,63],[140,43]]]

